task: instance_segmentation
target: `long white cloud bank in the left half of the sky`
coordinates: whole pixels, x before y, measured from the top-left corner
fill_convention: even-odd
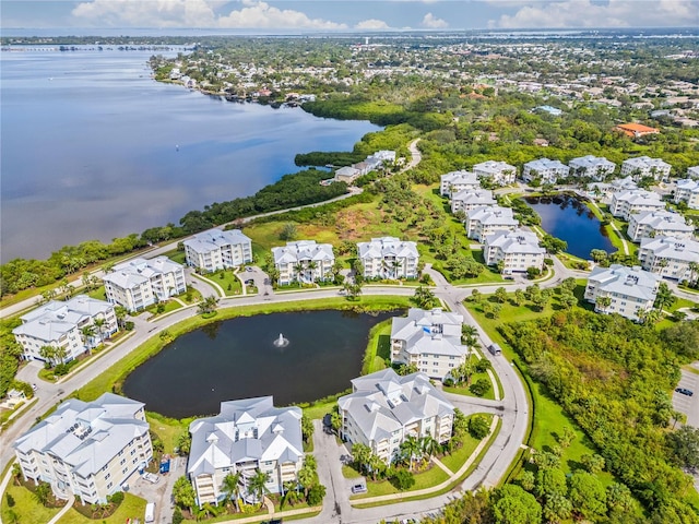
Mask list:
[[[229,27],[345,29],[346,24],[311,19],[258,0],[242,0],[239,10],[217,14],[223,0],[94,0],[79,3],[72,14],[82,23],[140,27]]]

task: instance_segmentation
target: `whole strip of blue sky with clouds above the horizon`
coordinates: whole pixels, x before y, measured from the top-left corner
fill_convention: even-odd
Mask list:
[[[699,0],[2,0],[2,28],[697,27]]]

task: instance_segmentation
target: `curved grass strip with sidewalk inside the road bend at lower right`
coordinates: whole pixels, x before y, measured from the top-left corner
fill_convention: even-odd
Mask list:
[[[399,491],[388,480],[378,484],[369,481],[367,483],[367,493],[351,498],[352,505],[355,508],[372,508],[411,500],[430,499],[455,488],[477,466],[478,461],[485,455],[485,452],[490,448],[499,432],[500,417],[493,415],[481,416],[493,417],[488,436],[481,441],[469,438],[451,455],[446,455],[440,460],[431,458],[433,467],[414,476],[415,485],[411,490]]]

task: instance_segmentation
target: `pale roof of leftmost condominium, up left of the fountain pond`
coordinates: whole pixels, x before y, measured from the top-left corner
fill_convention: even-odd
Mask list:
[[[22,325],[12,333],[27,335],[46,342],[58,341],[78,324],[114,309],[109,302],[78,295],[67,301],[51,300],[21,317]]]

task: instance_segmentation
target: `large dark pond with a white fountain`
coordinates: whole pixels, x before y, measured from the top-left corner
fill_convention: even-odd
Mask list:
[[[218,413],[222,401],[274,395],[310,402],[359,376],[369,330],[401,314],[273,313],[215,322],[187,333],[133,371],[123,393],[176,418]],[[286,347],[275,347],[280,333]]]

